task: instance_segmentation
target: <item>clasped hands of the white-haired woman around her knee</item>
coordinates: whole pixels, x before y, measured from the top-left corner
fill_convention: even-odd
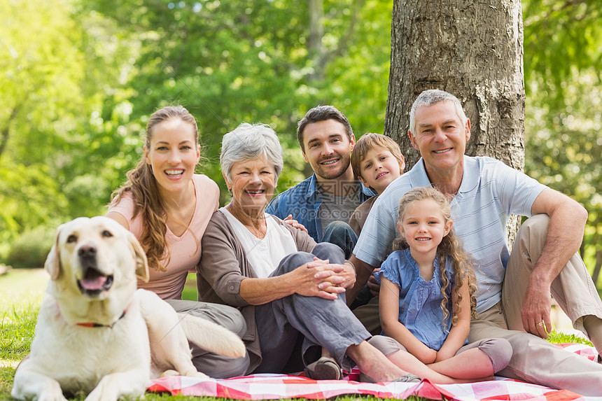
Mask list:
[[[344,278],[341,265],[331,265],[328,260],[314,258],[313,262],[305,263],[290,272],[296,286],[295,293],[306,297],[321,297],[325,300],[336,300],[338,294],[345,289],[340,285]]]

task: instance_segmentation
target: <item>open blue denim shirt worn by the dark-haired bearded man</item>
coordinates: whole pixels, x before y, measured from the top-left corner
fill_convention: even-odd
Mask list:
[[[360,181],[356,182],[360,203],[376,195],[370,188],[363,186]],[[322,240],[322,220],[318,209],[321,204],[322,194],[318,190],[318,180],[314,173],[311,177],[272,199],[265,212],[279,218],[286,218],[292,214],[295,220],[307,228],[309,236],[316,242],[320,242]]]

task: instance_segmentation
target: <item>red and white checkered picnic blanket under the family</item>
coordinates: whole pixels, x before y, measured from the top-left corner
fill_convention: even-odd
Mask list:
[[[597,356],[594,349],[582,344],[561,344],[591,360]],[[155,379],[148,391],[169,392],[172,395],[196,395],[237,400],[277,400],[281,398],[307,398],[321,400],[343,394],[374,395],[378,398],[405,400],[415,395],[429,400],[458,401],[602,401],[600,397],[584,397],[568,390],[528,384],[511,379],[496,378],[472,384],[421,383],[361,383],[354,381],[358,372],[351,372],[346,380],[315,381],[306,377],[284,374],[254,374],[234,379],[197,379],[193,377],[165,377]]]

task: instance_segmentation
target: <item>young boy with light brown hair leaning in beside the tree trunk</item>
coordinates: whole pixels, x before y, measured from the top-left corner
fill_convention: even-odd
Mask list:
[[[361,136],[353,147],[351,168],[363,185],[380,195],[403,173],[405,162],[399,145],[393,139],[370,132]],[[358,237],[378,195],[360,204],[349,218],[349,225]]]

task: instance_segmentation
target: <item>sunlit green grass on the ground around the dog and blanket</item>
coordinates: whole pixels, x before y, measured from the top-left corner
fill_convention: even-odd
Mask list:
[[[15,367],[29,352],[31,340],[34,338],[35,324],[40,302],[42,300],[48,275],[42,269],[13,269],[0,276],[0,401],[10,400],[10,389],[13,387]],[[183,297],[196,299],[195,275],[190,274]],[[554,343],[581,342],[586,340],[561,333],[550,333]],[[591,345],[591,344],[589,344]],[[79,396],[73,400],[83,400]],[[171,396],[167,394],[147,393],[145,400],[188,400],[218,401],[227,400],[211,397]],[[347,395],[338,397],[339,401],[374,401],[372,396]],[[423,398],[410,397],[409,401],[426,401]]]

